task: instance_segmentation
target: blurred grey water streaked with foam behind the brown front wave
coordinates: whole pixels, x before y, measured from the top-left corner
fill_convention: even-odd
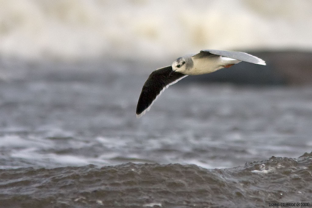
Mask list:
[[[0,83],[1,166],[156,162],[221,168],[311,150],[309,86],[209,85],[185,78],[136,119],[144,78],[106,79]]]

